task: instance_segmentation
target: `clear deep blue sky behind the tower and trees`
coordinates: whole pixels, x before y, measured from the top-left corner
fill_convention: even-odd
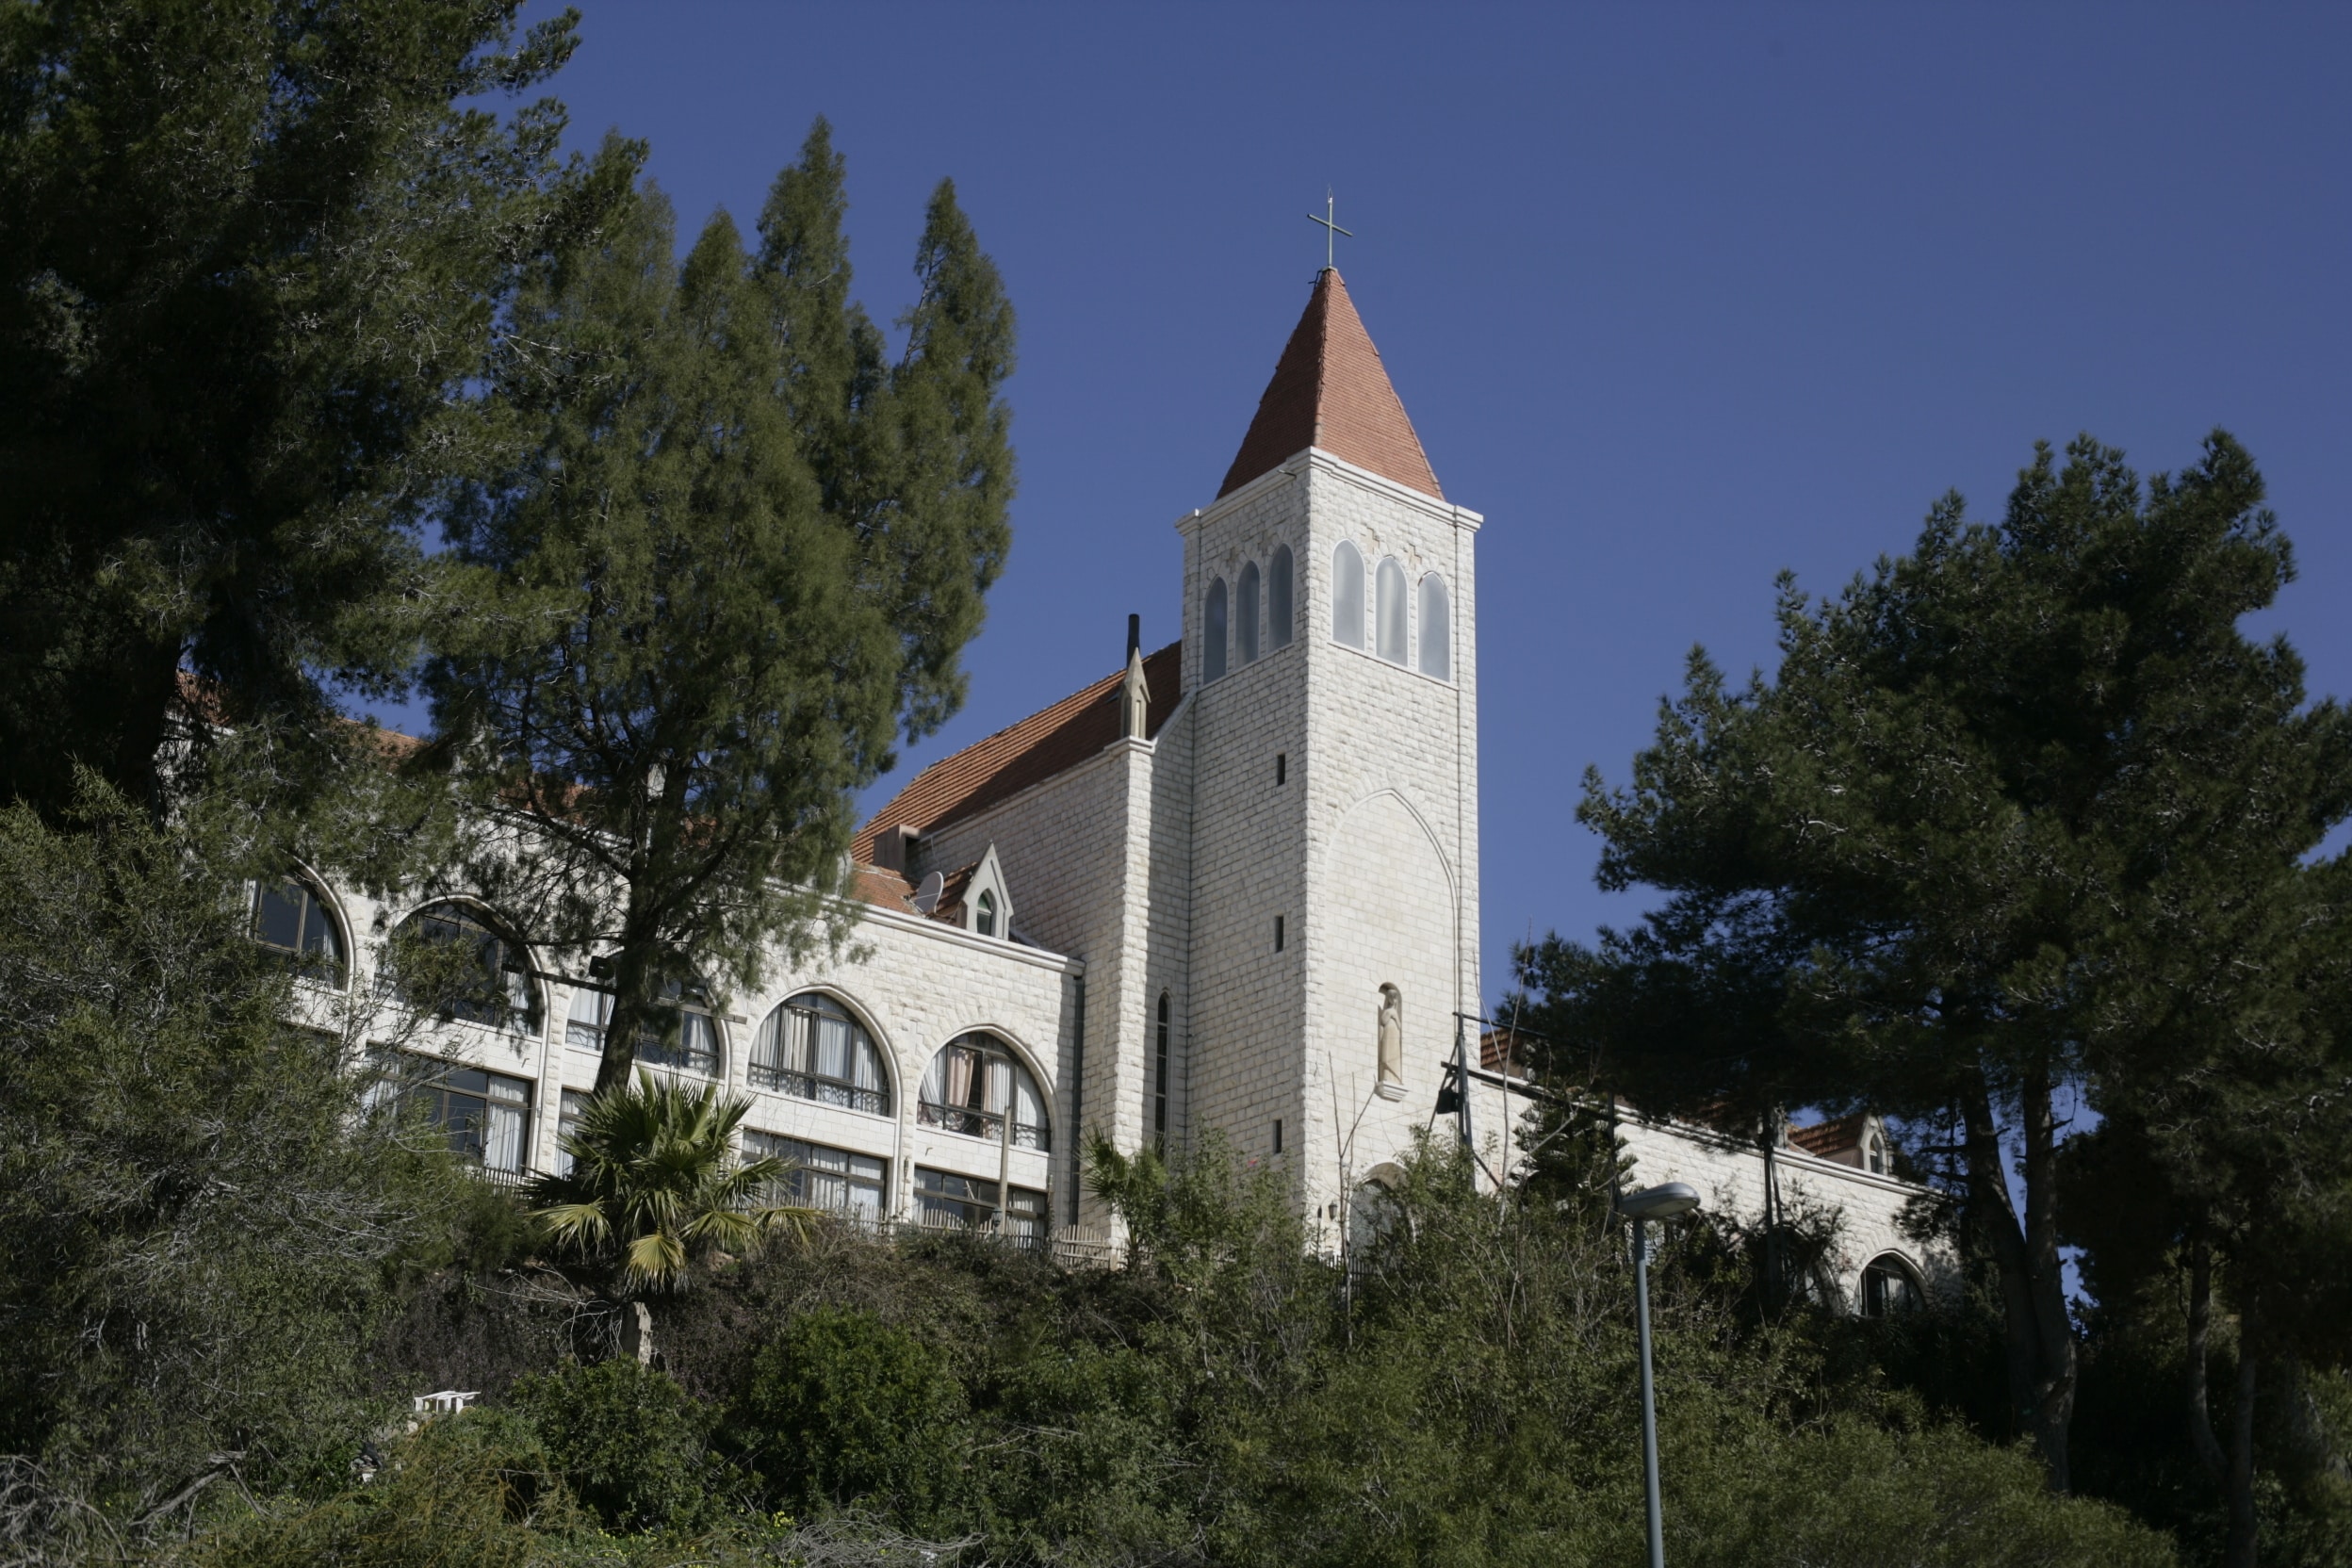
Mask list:
[[[2352,7],[616,5],[557,78],[652,141],[691,233],[750,223],[809,120],[861,294],[906,306],[950,174],[1021,313],[1014,552],[971,703],[901,771],[1176,630],[1178,541],[1322,261],[1479,536],[1486,990],[1588,936],[1578,776],[1623,780],[1771,583],[1997,517],[2034,437],[2143,470],[2225,425],[2352,691]],[[546,12],[536,12],[546,14]]]

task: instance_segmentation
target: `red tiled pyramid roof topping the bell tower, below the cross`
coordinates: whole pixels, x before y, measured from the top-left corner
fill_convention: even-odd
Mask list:
[[[1308,310],[1282,346],[1275,378],[1258,397],[1258,416],[1249,421],[1242,451],[1216,494],[1230,496],[1308,447],[1444,501],[1338,268],[1315,277]]]

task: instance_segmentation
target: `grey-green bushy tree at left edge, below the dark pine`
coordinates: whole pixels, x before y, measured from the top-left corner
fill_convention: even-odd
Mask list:
[[[362,1114],[207,842],[89,785],[0,811],[0,1453],[118,1519],[301,1472],[463,1178]]]

